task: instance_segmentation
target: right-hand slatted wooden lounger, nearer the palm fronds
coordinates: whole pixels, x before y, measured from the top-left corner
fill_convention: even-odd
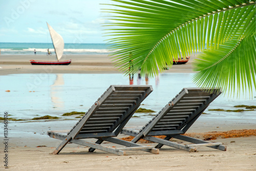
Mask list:
[[[159,143],[155,148],[160,149],[163,145],[172,146],[189,152],[196,151],[198,146],[226,151],[222,143],[212,143],[204,140],[184,136],[184,134],[204,112],[209,104],[222,93],[221,88],[183,88],[172,101],[170,101],[155,117],[144,127],[124,128],[121,133],[134,136],[131,142],[137,142],[140,138]],[[203,128],[202,128],[203,129]],[[153,136],[165,135],[164,139]],[[194,144],[179,144],[169,141],[171,138],[192,142]]]

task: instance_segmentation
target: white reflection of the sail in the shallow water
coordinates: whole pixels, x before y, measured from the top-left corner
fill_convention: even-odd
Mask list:
[[[53,85],[51,85],[51,101],[54,108],[62,108],[64,106],[64,102],[60,98],[59,92],[62,91],[62,85],[64,85],[63,74],[56,74],[56,80],[54,81]]]

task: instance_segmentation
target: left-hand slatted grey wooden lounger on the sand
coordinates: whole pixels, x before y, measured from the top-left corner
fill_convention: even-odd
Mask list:
[[[48,131],[51,138],[62,140],[53,154],[58,154],[68,142],[89,146],[89,152],[98,149],[125,155],[124,151],[127,150],[143,150],[159,154],[159,149],[154,146],[143,146],[114,138],[152,91],[152,86],[110,86],[69,132]],[[84,140],[88,138],[95,138],[97,141],[92,143]],[[101,145],[103,141],[121,144],[126,148],[109,148]]]

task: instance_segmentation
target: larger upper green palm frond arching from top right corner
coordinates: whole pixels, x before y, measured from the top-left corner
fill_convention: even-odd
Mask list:
[[[208,58],[204,59],[201,55],[201,60],[198,60],[195,65],[196,70],[201,71],[211,66],[204,64],[203,60],[217,62],[219,65],[218,61],[227,61],[226,56],[231,51],[230,57],[237,56],[238,47],[246,44],[250,36],[255,36],[255,30],[253,31],[254,28],[251,25],[255,22],[255,1],[112,1],[118,4],[111,5],[113,9],[105,11],[114,14],[109,17],[113,22],[106,23],[104,26],[106,35],[111,36],[108,41],[112,43],[111,50],[114,53],[111,55],[114,56],[115,66],[125,74],[137,72],[141,68],[141,74],[158,75],[158,67],[162,72],[166,64],[169,67],[172,66],[173,59],[177,60],[178,57],[204,52],[202,55],[205,54]],[[244,60],[250,61],[254,57],[255,61],[253,51],[249,52],[251,55],[244,56]],[[208,53],[219,54],[218,60],[211,59]],[[130,61],[133,67],[129,69]],[[231,63],[225,63],[225,65],[233,67]],[[223,64],[222,67],[225,65]],[[243,67],[239,69],[241,71]],[[205,69],[204,74],[209,72],[206,70],[210,69]],[[250,72],[254,78],[255,70],[251,69]],[[212,72],[209,73],[212,74]],[[206,78],[208,77],[211,75]],[[203,79],[198,79],[197,76],[195,78],[195,81],[203,86],[229,86],[233,81],[224,76],[214,82],[210,82],[210,79],[203,82]],[[241,78],[247,80],[246,83],[250,88],[252,87],[247,77]],[[224,79],[229,81],[223,84]],[[252,82],[255,82],[255,79]]]

